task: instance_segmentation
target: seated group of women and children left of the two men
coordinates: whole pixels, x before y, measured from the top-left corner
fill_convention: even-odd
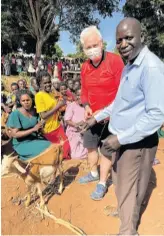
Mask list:
[[[87,157],[77,129],[78,123],[84,121],[79,78],[61,82],[43,70],[30,79],[30,85],[25,79],[12,83],[10,92],[2,84],[1,108],[2,117],[7,117],[8,136],[20,159],[39,155],[61,138],[63,158]]]

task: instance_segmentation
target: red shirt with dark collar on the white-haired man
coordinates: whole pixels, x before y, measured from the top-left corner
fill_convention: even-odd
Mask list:
[[[81,101],[92,111],[103,109],[115,99],[124,68],[119,55],[104,52],[97,67],[87,60],[81,69]]]

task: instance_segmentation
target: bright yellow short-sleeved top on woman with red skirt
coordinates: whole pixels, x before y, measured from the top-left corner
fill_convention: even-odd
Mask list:
[[[40,91],[35,95],[35,105],[37,113],[50,111],[57,105],[57,99],[55,99],[53,93]],[[58,112],[56,112],[46,119],[46,123],[43,129],[44,133],[50,133],[60,126],[58,116]]]

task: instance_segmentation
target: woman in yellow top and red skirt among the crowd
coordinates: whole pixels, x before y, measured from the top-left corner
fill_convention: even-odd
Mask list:
[[[37,83],[40,91],[35,95],[35,104],[37,113],[45,121],[44,136],[52,143],[59,143],[62,138],[65,141],[64,158],[69,159],[69,142],[59,121],[59,109],[66,103],[64,100],[58,102],[54,97],[51,91],[51,78],[47,71],[38,72]]]

